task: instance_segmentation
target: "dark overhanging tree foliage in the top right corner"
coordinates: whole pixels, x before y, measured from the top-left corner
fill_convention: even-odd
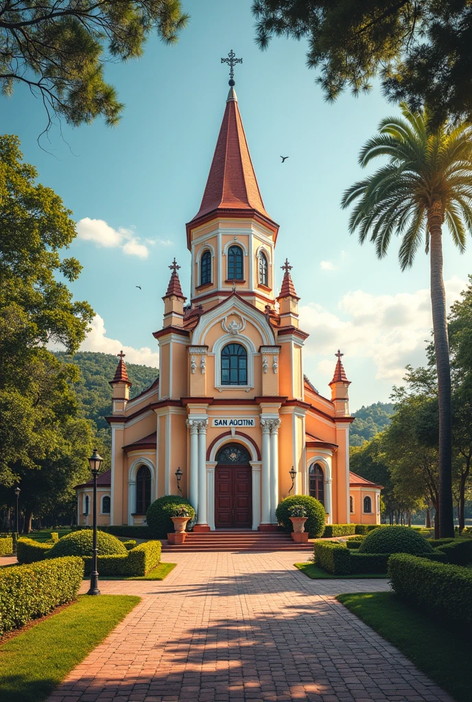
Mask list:
[[[472,4],[468,0],[254,0],[256,42],[307,39],[307,64],[328,100],[369,91],[425,103],[439,124],[472,119]]]

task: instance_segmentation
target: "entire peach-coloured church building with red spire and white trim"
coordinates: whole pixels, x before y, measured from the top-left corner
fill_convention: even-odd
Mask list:
[[[274,530],[288,494],[322,501],[328,524],[378,523],[380,486],[349,471],[342,355],[323,397],[303,373],[308,334],[287,260],[275,290],[279,227],[263,205],[234,88],[186,230],[190,301],[174,259],[153,335],[159,378],[129,399],[119,355],[110,381],[112,468],[100,476],[98,523],[142,524],[169,494],[190,500],[195,531]],[[91,523],[92,498],[90,482],[77,486],[79,524]]]

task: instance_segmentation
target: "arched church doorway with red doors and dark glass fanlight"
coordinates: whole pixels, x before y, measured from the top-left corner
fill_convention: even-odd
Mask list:
[[[249,451],[241,444],[225,444],[216,454],[216,529],[251,529],[250,460]]]

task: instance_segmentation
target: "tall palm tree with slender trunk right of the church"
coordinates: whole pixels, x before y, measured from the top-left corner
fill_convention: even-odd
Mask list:
[[[367,237],[383,258],[392,234],[402,237],[402,270],[410,267],[421,242],[430,255],[431,306],[439,397],[440,536],[454,536],[452,511],[451,374],[447,313],[442,280],[442,225],[446,224],[459,251],[472,230],[472,127],[447,124],[433,129],[427,112],[411,112],[400,104],[403,118],[381,121],[359,157],[361,166],[387,156],[376,173],[355,183],[344,194],[343,208],[356,201],[349,230]]]

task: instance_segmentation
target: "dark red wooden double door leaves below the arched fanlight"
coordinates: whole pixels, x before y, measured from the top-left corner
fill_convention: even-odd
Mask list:
[[[218,463],[215,470],[216,529],[251,529],[251,466]]]

